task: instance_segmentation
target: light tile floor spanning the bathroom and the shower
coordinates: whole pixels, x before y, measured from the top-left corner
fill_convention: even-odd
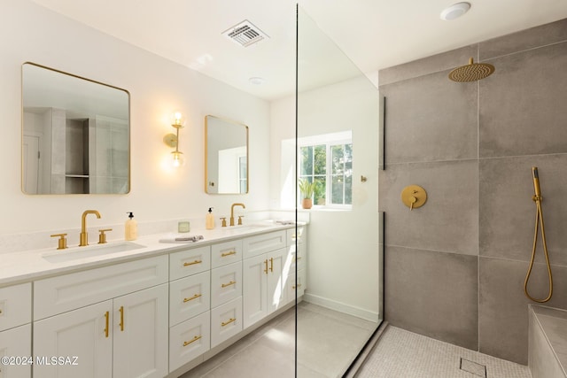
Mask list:
[[[298,307],[298,377],[340,377],[376,325],[318,305]],[[295,310],[234,343],[180,378],[291,378]],[[527,366],[401,328],[384,329],[358,378],[532,378]]]

